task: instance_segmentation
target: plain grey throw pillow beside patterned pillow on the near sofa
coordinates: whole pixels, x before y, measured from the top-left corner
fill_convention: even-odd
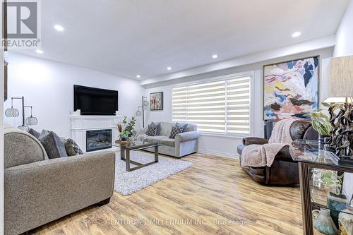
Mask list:
[[[42,143],[49,159],[67,157],[63,140],[53,131],[50,131],[47,135],[44,136],[41,134],[40,143]]]

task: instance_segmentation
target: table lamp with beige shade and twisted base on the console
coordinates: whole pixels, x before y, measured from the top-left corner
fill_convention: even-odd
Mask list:
[[[330,147],[340,158],[353,155],[353,56],[335,57],[330,60],[325,77],[330,80]],[[352,162],[353,163],[353,162]]]

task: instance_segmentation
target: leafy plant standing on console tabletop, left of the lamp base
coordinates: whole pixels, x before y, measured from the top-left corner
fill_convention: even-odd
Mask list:
[[[323,150],[325,145],[325,138],[329,137],[331,130],[330,119],[327,114],[321,112],[321,109],[318,109],[311,114],[307,114],[311,118],[311,124],[315,131],[318,132],[318,148]]]

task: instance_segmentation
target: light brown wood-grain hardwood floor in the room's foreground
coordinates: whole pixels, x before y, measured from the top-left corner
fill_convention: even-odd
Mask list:
[[[265,187],[239,161],[191,155],[193,167],[88,207],[34,234],[303,234],[299,188]]]

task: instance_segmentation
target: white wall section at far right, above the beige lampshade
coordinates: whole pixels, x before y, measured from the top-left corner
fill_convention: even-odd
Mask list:
[[[353,1],[347,7],[336,33],[336,45],[333,56],[350,56],[353,54]]]

